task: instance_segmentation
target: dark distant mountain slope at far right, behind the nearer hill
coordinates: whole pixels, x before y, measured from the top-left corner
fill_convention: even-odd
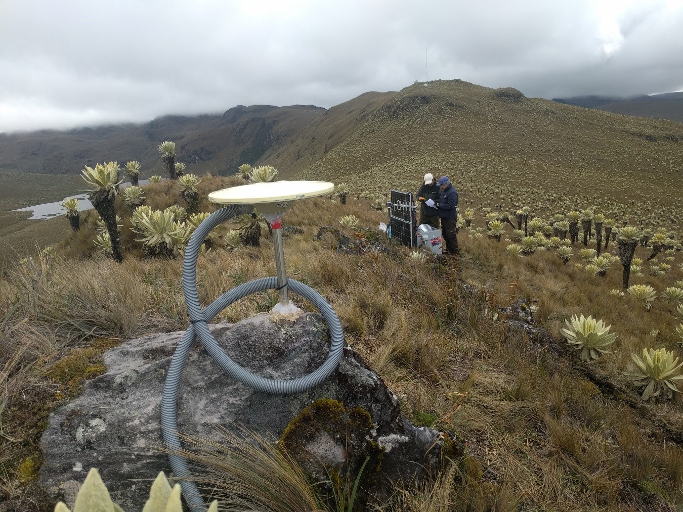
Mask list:
[[[615,114],[636,115],[652,119],[669,119],[683,123],[683,92],[664,94],[641,94],[631,98],[611,96],[576,96],[574,98],[553,98],[554,102],[600,109]]]

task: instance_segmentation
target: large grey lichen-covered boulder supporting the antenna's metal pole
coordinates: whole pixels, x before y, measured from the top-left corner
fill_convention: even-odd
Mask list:
[[[257,315],[211,328],[234,360],[267,378],[310,373],[329,347],[324,320],[313,313],[296,322],[275,324],[268,315]],[[71,505],[88,470],[96,467],[117,504],[141,507],[156,474],[170,472],[166,455],[159,451],[158,418],[166,371],[181,336],[171,332],[133,339],[104,353],[107,373],[89,381],[79,398],[50,416],[41,442],[40,485]],[[395,395],[350,347],[328,380],[305,393],[281,396],[257,393],[228,378],[197,344],[183,373],[180,397],[180,431],[206,438],[219,438],[217,425],[241,423],[276,440],[320,398],[341,401],[347,408],[361,406],[375,425],[372,440],[384,448],[380,483],[420,477],[441,464],[444,451],[458,451],[443,434],[410,424]],[[313,438],[311,446],[316,446]]]

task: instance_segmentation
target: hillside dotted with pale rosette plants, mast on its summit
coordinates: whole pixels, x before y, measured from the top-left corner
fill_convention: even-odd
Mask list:
[[[682,124],[458,80],[406,87],[361,122],[318,162],[296,169],[300,175],[387,193],[416,190],[432,172],[451,177],[464,205],[593,205],[677,229],[683,221]]]

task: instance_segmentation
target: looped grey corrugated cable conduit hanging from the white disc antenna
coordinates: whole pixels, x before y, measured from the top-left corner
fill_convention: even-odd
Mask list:
[[[176,347],[176,352],[171,359],[161,400],[161,432],[167,449],[171,452],[182,450],[180,439],[178,439],[178,424],[176,422],[178,389],[180,388],[182,369],[185,366],[190,349],[195,343],[195,339],[199,339],[200,343],[204,345],[206,352],[227,375],[245,386],[254,388],[262,393],[270,393],[271,395],[291,395],[317,386],[335,371],[344,352],[344,332],[335,311],[317,291],[303,283],[294,281],[294,279],[288,280],[288,288],[295,294],[309,300],[320,311],[330,331],[329,354],[327,354],[327,358],[322,365],[315,371],[292,380],[273,380],[260,377],[242,368],[230,356],[225,354],[221,345],[216,341],[214,335],[211,334],[207,323],[223,311],[223,309],[233,302],[240,300],[240,298],[244,298],[257,291],[274,289],[278,286],[277,277],[264,277],[233,288],[211,302],[205,309],[202,309],[201,304],[199,304],[196,276],[197,257],[199,257],[201,244],[204,243],[204,239],[214,227],[227,221],[229,218],[249,213],[251,210],[253,210],[253,205],[231,205],[212,213],[195,229],[185,250],[185,257],[182,262],[182,291],[185,296],[185,304],[191,324],[184,335],[182,335],[180,343]],[[180,487],[182,487],[182,494],[192,511],[206,511],[206,505],[199,494],[197,486],[192,481],[187,480],[190,477],[190,470],[185,457],[178,455],[178,453],[171,453],[169,455],[169,463],[173,469],[173,476],[181,479]]]

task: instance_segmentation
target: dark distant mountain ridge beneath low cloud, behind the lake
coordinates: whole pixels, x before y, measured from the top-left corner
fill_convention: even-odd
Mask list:
[[[138,160],[143,175],[162,174],[156,147],[170,140],[176,142],[176,162],[189,171],[233,173],[288,143],[325,112],[313,105],[238,105],[223,115],[169,115],[141,125],[0,134],[0,169],[73,174],[104,160]]]

